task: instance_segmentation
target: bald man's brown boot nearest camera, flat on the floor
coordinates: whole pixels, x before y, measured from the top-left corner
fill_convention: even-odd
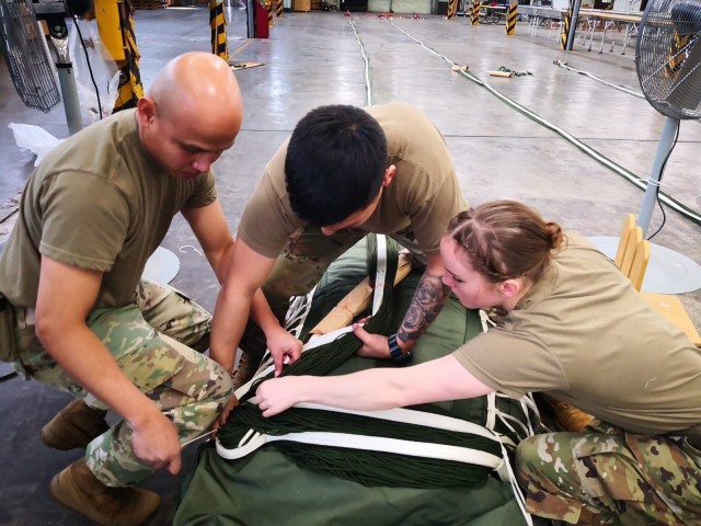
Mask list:
[[[105,526],[143,524],[161,503],[152,491],[103,484],[90,471],[84,458],[54,477],[49,493],[59,504]]]

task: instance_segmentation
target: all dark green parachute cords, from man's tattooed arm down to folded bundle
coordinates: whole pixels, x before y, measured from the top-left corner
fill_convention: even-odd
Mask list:
[[[377,260],[377,244],[368,237],[368,262]],[[388,238],[387,278],[384,295],[379,311],[368,321],[366,329],[372,333],[390,332],[393,305],[392,289],[399,262],[399,244]],[[374,266],[372,263],[369,266]],[[307,351],[281,376],[325,376],[356,355],[363,343],[348,332],[336,341]],[[407,423],[398,423],[333,411],[291,408],[284,413],[266,419],[252,403],[245,403],[255,393],[261,381],[254,384],[242,397],[241,403],[229,414],[227,423],[219,430],[217,441],[227,449],[239,447],[253,430],[266,435],[286,435],[301,432],[347,433],[356,435],[414,441],[429,444],[453,445],[501,456],[497,442],[469,433],[437,430]],[[427,412],[443,413],[435,407],[414,408]],[[279,441],[275,447],[289,456],[298,466],[313,471],[343,477],[365,485],[403,488],[475,488],[486,481],[492,468],[451,460],[440,460],[410,455],[388,454],[366,449],[332,446],[310,446],[296,442]]]

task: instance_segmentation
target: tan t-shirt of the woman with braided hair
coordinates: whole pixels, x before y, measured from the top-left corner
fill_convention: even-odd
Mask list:
[[[700,424],[701,351],[586,239],[567,238],[521,305],[456,358],[512,397],[547,391],[635,433]]]

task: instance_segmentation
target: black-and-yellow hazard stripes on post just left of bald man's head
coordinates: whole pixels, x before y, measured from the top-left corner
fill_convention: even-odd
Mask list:
[[[141,84],[141,73],[139,71],[139,49],[136,45],[136,34],[134,33],[134,3],[131,0],[119,2],[119,30],[124,44],[124,60],[117,61],[117,67],[122,71],[119,76],[119,87],[117,89],[117,100],[114,103],[113,112],[136,107],[139,99],[143,96],[143,85]]]

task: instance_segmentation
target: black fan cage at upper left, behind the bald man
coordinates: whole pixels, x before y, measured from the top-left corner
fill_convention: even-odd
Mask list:
[[[49,52],[31,0],[0,0],[0,47],[20,99],[50,111],[60,101]]]

